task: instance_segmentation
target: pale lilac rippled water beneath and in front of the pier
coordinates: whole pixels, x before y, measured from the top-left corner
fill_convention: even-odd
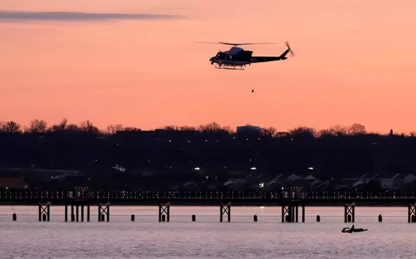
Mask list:
[[[38,222],[36,206],[0,206],[0,258],[416,258],[407,207],[356,207],[355,226],[369,231],[353,234],[341,233],[351,226],[344,207],[306,207],[306,223],[280,223],[280,207],[231,207],[230,223],[219,222],[219,207],[172,206],[170,222],[158,222],[157,207],[113,206],[110,222],[97,222],[97,207],[91,222],[64,222],[64,207],[50,211],[50,222]]]

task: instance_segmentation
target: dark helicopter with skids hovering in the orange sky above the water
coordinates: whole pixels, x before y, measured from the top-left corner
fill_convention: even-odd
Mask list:
[[[209,43],[209,42],[198,42],[198,43]],[[270,62],[287,59],[286,55],[290,54],[295,56],[292,49],[289,46],[289,43],[286,42],[287,50],[285,50],[278,57],[255,57],[252,56],[253,51],[244,50],[243,48],[238,47],[239,45],[253,45],[253,44],[277,44],[277,43],[225,43],[225,42],[216,42],[211,44],[226,44],[232,45],[228,51],[221,51],[217,53],[215,57],[209,59],[211,65],[215,64],[216,68],[219,69],[238,69],[244,70],[243,67],[246,65],[251,65],[252,63],[261,63],[261,62]]]

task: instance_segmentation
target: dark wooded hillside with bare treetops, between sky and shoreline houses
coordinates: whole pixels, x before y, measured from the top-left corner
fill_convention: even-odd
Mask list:
[[[4,122],[0,125],[0,167],[84,170],[92,179],[110,175],[105,178],[108,183],[122,185],[132,182],[122,177],[138,175],[141,180],[142,172],[163,174],[152,176],[155,185],[187,182],[197,167],[204,175],[195,177],[208,175],[208,181],[223,182],[234,177],[229,172],[251,174],[251,168],[267,176],[267,181],[279,173],[313,173],[324,180],[416,172],[414,133],[391,130],[383,135],[368,132],[360,124],[323,130],[297,127],[287,132],[262,128],[253,134],[236,134],[217,123],[162,129],[146,132],[116,124],[102,130],[89,120],[71,124],[64,119],[51,126],[43,120],[27,126]],[[126,171],[116,170],[116,165]]]

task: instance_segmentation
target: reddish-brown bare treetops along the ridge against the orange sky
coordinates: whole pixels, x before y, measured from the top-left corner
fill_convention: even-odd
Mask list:
[[[201,131],[201,132],[224,132],[224,133],[235,133],[234,129],[231,129],[229,126],[221,127],[219,124],[212,122],[206,125],[200,125],[199,127],[191,126],[165,126],[162,129],[168,131]],[[106,129],[98,129],[92,121],[85,120],[79,124],[69,123],[66,118],[64,118],[60,123],[48,126],[45,120],[32,120],[29,125],[22,126],[21,124],[15,121],[0,122],[0,132],[2,133],[47,133],[54,131],[74,131],[74,132],[86,132],[93,134],[116,134],[117,131],[141,131],[141,129],[136,127],[125,127],[121,124],[111,124],[107,126]],[[354,123],[351,126],[340,126],[336,125],[329,129],[317,130],[310,127],[299,126],[295,129],[290,129],[288,131],[280,132],[276,128],[261,128],[261,135],[279,137],[290,135],[309,135],[313,137],[327,137],[327,136],[354,136],[354,135],[383,135],[380,132],[368,132],[366,127],[361,124]],[[408,134],[399,133],[394,134],[393,129],[390,130],[390,135],[400,135],[400,136],[410,136],[415,137],[416,131],[411,131]]]

